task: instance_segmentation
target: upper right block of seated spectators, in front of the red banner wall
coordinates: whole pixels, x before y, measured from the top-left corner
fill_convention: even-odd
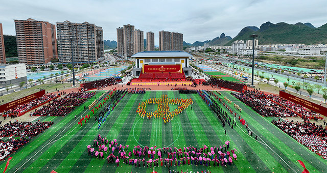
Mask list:
[[[294,111],[268,99],[263,92],[254,90],[232,95],[264,117],[297,117]]]

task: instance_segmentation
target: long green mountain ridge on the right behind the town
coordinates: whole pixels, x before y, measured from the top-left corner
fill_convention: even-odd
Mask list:
[[[244,27],[240,33],[230,40],[226,45],[231,45],[236,40],[249,40],[250,35],[256,34],[259,44],[326,44],[327,43],[327,23],[315,28],[311,23],[288,24],[285,22],[266,22],[257,27]]]

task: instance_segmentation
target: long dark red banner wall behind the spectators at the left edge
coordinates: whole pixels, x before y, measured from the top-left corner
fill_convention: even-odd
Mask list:
[[[9,110],[9,109],[11,109],[13,107],[16,107],[18,105],[21,105],[21,104],[27,103],[27,102],[29,102],[31,100],[42,97],[44,94],[45,94],[45,90],[42,90],[42,91],[39,91],[37,93],[28,95],[26,97],[22,97],[20,99],[11,101],[11,102],[3,104],[3,105],[0,105],[0,112],[4,112],[4,111]]]

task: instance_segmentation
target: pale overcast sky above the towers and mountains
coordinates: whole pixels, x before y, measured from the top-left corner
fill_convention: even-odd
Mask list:
[[[211,40],[221,33],[235,37],[245,26],[264,22],[327,23],[327,1],[223,0],[223,1],[137,1],[137,0],[2,0],[0,22],[5,35],[15,35],[14,19],[33,18],[53,24],[95,23],[103,27],[104,40],[117,40],[116,28],[132,24],[155,33],[161,30],[183,34],[186,42]]]

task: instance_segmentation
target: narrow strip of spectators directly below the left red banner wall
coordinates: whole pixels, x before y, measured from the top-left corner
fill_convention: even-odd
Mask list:
[[[42,97],[39,97],[37,99],[34,99],[28,103],[24,103],[21,105],[18,105],[10,110],[0,112],[0,116],[7,117],[7,116],[18,116],[19,113],[24,113],[32,109],[33,107],[40,105],[46,101],[52,100],[54,98],[57,98],[56,94],[44,94]]]

